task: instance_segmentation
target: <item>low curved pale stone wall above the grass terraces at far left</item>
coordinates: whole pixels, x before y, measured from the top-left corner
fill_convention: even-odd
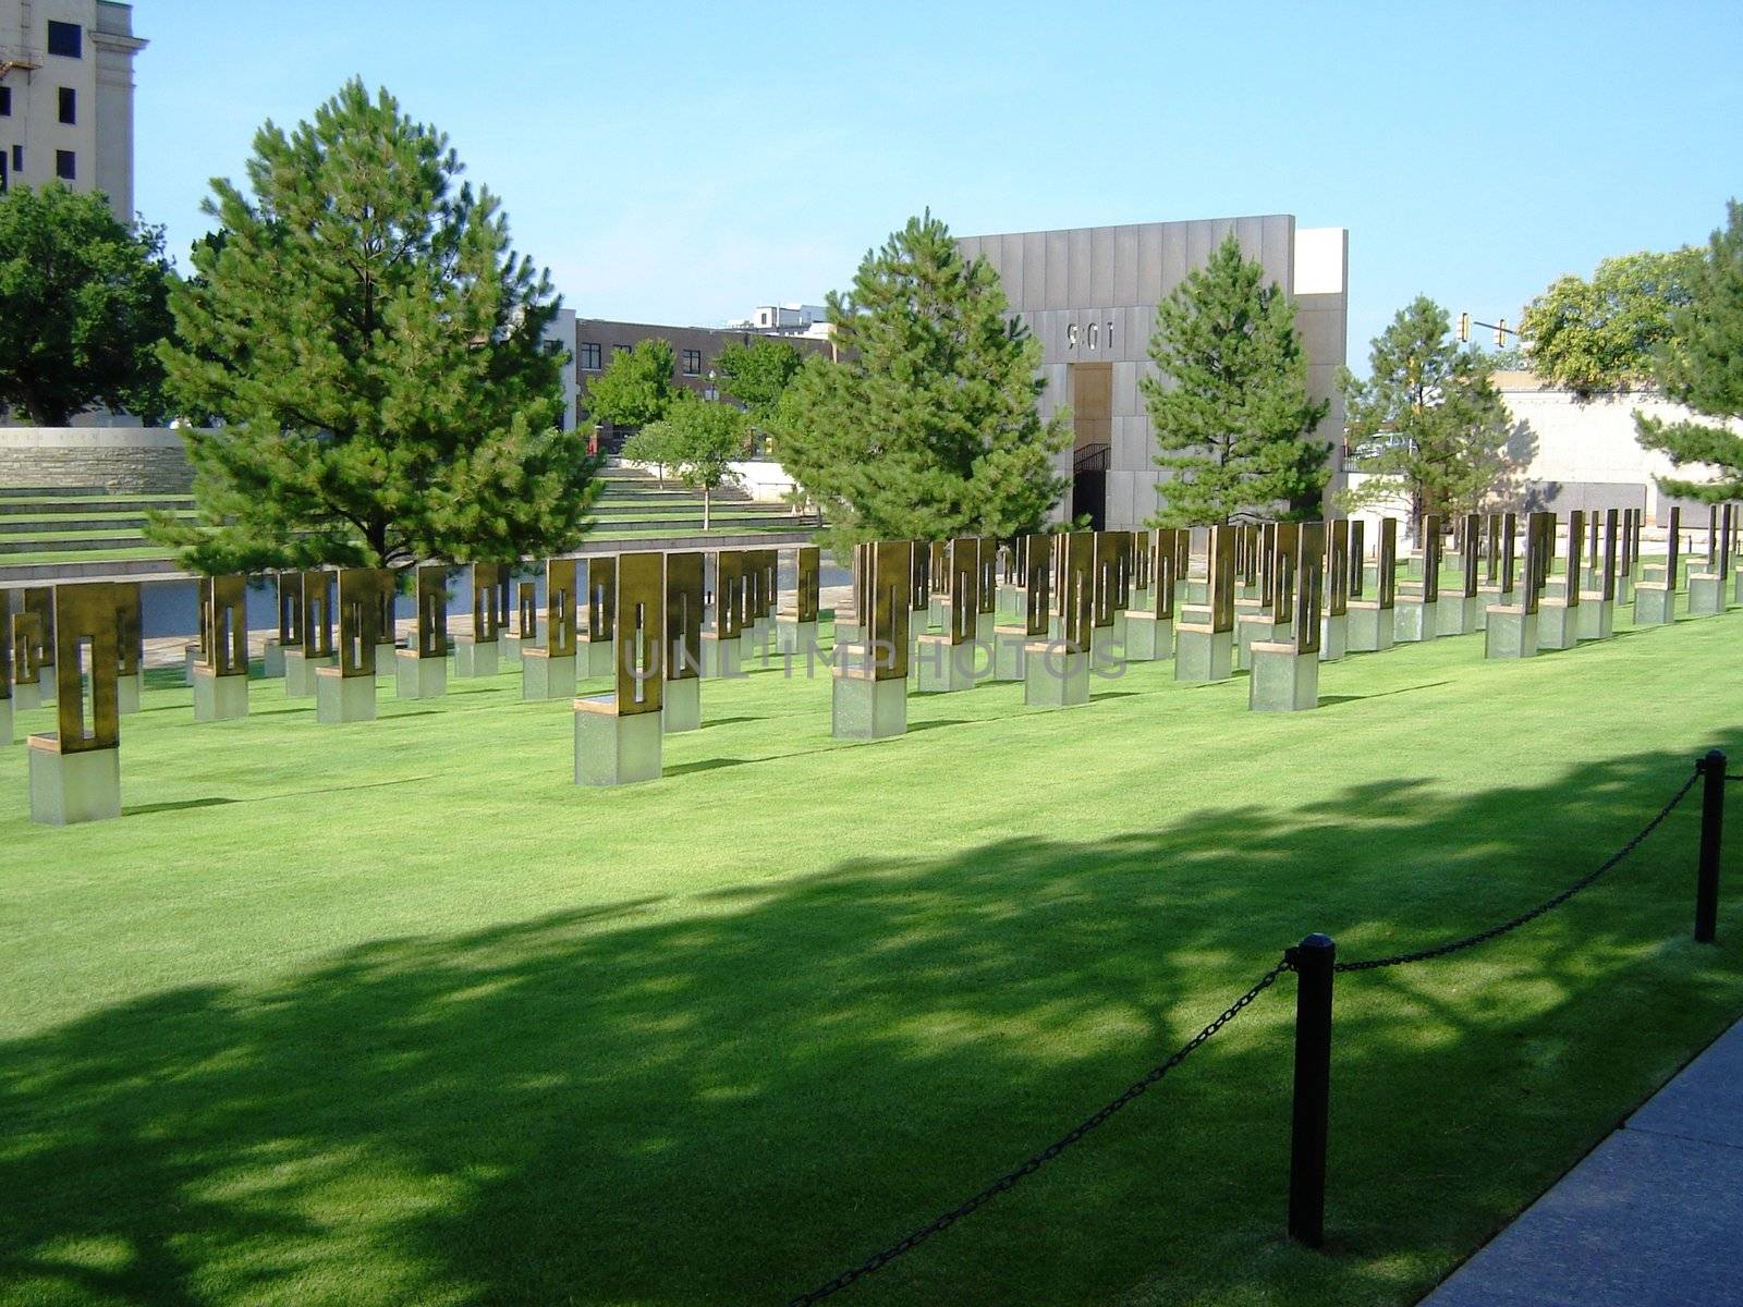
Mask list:
[[[193,469],[166,427],[0,427],[0,491],[26,486],[185,495]]]

